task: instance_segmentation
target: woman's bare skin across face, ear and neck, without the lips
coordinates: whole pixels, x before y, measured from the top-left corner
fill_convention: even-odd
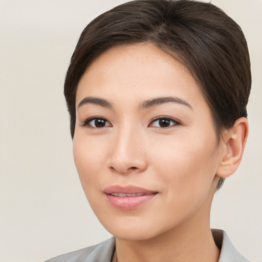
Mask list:
[[[180,100],[141,106],[159,97]],[[92,117],[105,126],[86,121]],[[160,127],[159,117],[173,120]],[[114,47],[96,58],[78,84],[73,151],[86,198],[116,237],[118,261],[218,261],[209,224],[217,174],[234,172],[246,136],[242,119],[217,143],[199,86],[154,45]],[[117,209],[104,192],[112,185],[157,194],[137,208]]]

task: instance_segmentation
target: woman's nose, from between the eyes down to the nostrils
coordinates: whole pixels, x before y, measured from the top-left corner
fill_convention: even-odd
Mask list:
[[[139,173],[146,169],[147,160],[143,136],[133,128],[123,128],[112,141],[109,167],[113,172]]]

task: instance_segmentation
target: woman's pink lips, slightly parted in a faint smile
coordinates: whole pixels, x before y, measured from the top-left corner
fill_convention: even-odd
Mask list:
[[[117,209],[135,209],[156,197],[158,192],[135,186],[111,186],[104,189],[107,201]]]

